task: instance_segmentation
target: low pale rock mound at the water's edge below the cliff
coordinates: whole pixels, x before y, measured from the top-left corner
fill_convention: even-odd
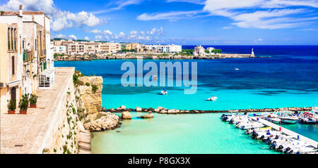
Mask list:
[[[115,129],[119,124],[119,117],[111,112],[105,112],[100,119],[84,124],[85,129],[90,131],[104,131],[107,129]]]

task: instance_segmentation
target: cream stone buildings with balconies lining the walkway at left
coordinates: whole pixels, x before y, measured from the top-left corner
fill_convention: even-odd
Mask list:
[[[7,100],[18,101],[24,93],[35,93],[44,81],[39,77],[54,68],[50,50],[50,19],[40,11],[5,11],[0,15],[0,96],[1,112]],[[47,70],[49,69],[49,70]]]

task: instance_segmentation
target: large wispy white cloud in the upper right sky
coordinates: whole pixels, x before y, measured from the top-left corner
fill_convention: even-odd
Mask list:
[[[302,7],[318,7],[317,0],[285,1],[285,0],[207,0],[204,11],[212,15],[231,18],[243,28],[280,29],[305,25],[306,20],[316,20],[316,17],[299,20],[290,15],[310,13]],[[247,12],[249,11],[249,12]],[[307,17],[307,16],[306,16]]]

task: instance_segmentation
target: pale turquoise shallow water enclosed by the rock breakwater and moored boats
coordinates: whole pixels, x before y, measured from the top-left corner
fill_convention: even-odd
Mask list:
[[[93,133],[92,153],[276,153],[221,122],[220,114],[136,118],[144,114],[131,112],[119,129]]]

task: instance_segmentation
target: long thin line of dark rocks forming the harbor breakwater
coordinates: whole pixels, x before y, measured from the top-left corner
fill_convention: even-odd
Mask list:
[[[166,109],[163,107],[158,108],[126,108],[126,106],[122,105],[119,108],[110,108],[105,109],[102,108],[104,112],[124,112],[124,111],[136,111],[136,112],[158,112],[160,114],[198,114],[198,113],[226,113],[226,112],[276,112],[276,111],[310,111],[312,108],[261,108],[261,109],[240,109],[240,110],[178,110],[178,109]]]

